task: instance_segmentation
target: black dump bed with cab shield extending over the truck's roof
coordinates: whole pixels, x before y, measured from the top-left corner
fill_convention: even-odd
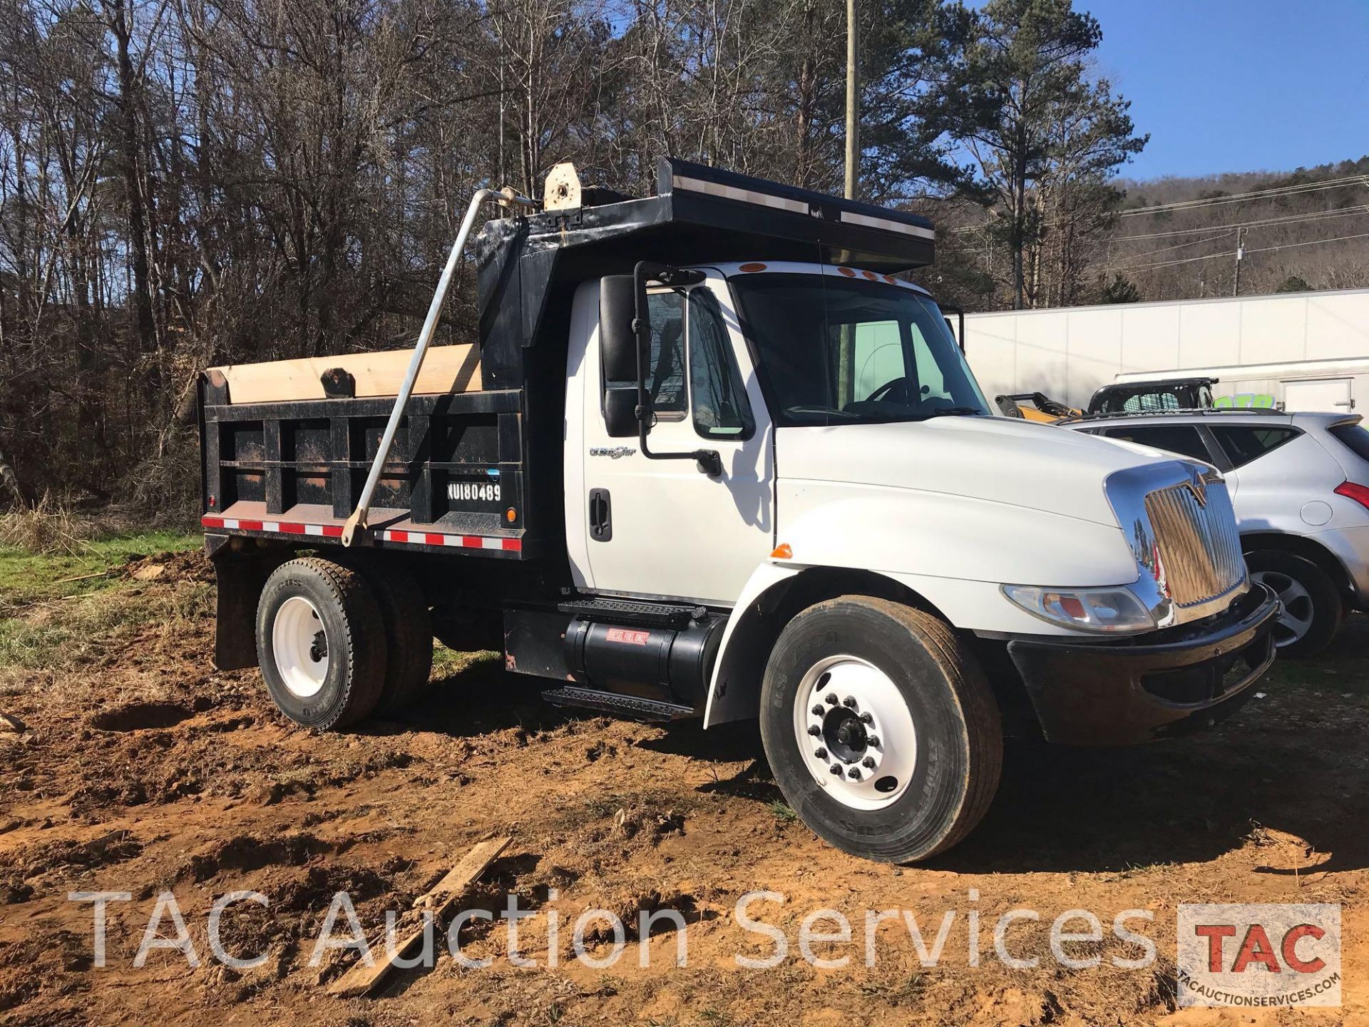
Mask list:
[[[583,281],[638,260],[810,260],[880,272],[932,260],[924,218],[683,160],[661,160],[656,196],[612,199],[486,223],[475,242],[478,388],[409,400],[356,544],[512,560],[563,550],[565,341]],[[394,404],[348,383],[326,367],[318,397],[244,403],[222,370],[203,377],[211,535],[341,541]]]

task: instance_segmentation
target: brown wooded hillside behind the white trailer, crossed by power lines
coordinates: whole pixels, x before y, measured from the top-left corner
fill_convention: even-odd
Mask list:
[[[1369,288],[1369,156],[1291,173],[1118,179],[1116,188],[1113,223],[1071,238],[1077,299],[1060,304],[1040,289],[1028,305],[1231,296],[1238,237],[1242,296]],[[936,222],[939,252],[919,281],[967,309],[1008,308],[1009,253],[984,208],[953,199],[921,210]],[[1047,277],[1058,274],[1060,240],[1047,219],[1036,251]],[[1027,259],[1032,267],[1031,248]]]

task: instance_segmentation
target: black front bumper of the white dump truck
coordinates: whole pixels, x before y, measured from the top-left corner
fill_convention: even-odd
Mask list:
[[[1225,612],[1140,639],[1008,644],[1047,741],[1129,745],[1214,724],[1275,659],[1279,600],[1253,585]],[[1161,639],[1161,641],[1157,641]]]

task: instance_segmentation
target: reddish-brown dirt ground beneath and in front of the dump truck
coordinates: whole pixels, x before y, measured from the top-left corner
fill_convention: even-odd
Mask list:
[[[0,1022],[1369,1024],[1361,616],[1325,659],[1280,665],[1262,698],[1205,735],[1124,750],[1013,745],[969,841],[894,868],[847,857],[797,822],[750,726],[704,733],[561,712],[496,661],[444,650],[402,718],[316,735],[274,712],[255,671],[209,665],[212,583],[197,553],[136,560],[112,581],[56,593],[0,603],[0,712],[25,728],[0,731]],[[535,965],[508,956],[507,920],[472,920],[463,952],[489,967],[444,952],[375,997],[327,994],[353,959],[335,950],[308,965],[334,893],[350,896],[374,937],[386,909],[408,909],[496,834],[512,844],[461,905],[498,911],[515,893],[535,912],[519,924]],[[220,938],[268,959],[238,972],[209,957],[207,916],[215,898],[248,889],[270,906],[230,906]],[[131,894],[108,905],[103,968],[90,904],[67,900],[99,890]],[[166,890],[197,968],[170,949],[134,965]],[[756,890],[784,897],[750,906],[789,943],[767,969],[735,961],[775,952],[734,913]],[[1236,901],[1342,904],[1340,1009],[1176,1008],[1176,905]],[[1013,923],[1009,945],[1016,959],[1039,957],[1035,968],[994,954],[994,922],[1019,906],[1040,920]],[[628,923],[606,968],[572,952],[571,924],[591,908]],[[810,965],[798,950],[801,920],[820,908],[850,919],[853,943],[815,954],[849,954],[846,967]],[[1072,943],[1101,954],[1097,968],[1050,956],[1050,922],[1075,908],[1103,924],[1106,942]],[[639,965],[642,909],[683,916],[686,965],[668,926],[646,938],[650,965]],[[916,913],[928,945],[943,913],[957,916],[935,967],[920,965],[898,922],[879,927],[867,967],[867,909]],[[971,911],[983,924],[977,965]],[[1149,967],[1110,961],[1140,954],[1112,934],[1123,911],[1153,915],[1129,922],[1157,945]],[[174,933],[164,919],[162,934]],[[605,922],[587,937],[591,959],[612,954]]]

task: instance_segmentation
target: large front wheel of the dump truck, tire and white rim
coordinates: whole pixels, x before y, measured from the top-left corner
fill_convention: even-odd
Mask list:
[[[890,600],[843,596],[794,618],[765,667],[760,727],[790,807],[864,859],[950,849],[998,789],[1002,722],[983,670],[947,624]]]

